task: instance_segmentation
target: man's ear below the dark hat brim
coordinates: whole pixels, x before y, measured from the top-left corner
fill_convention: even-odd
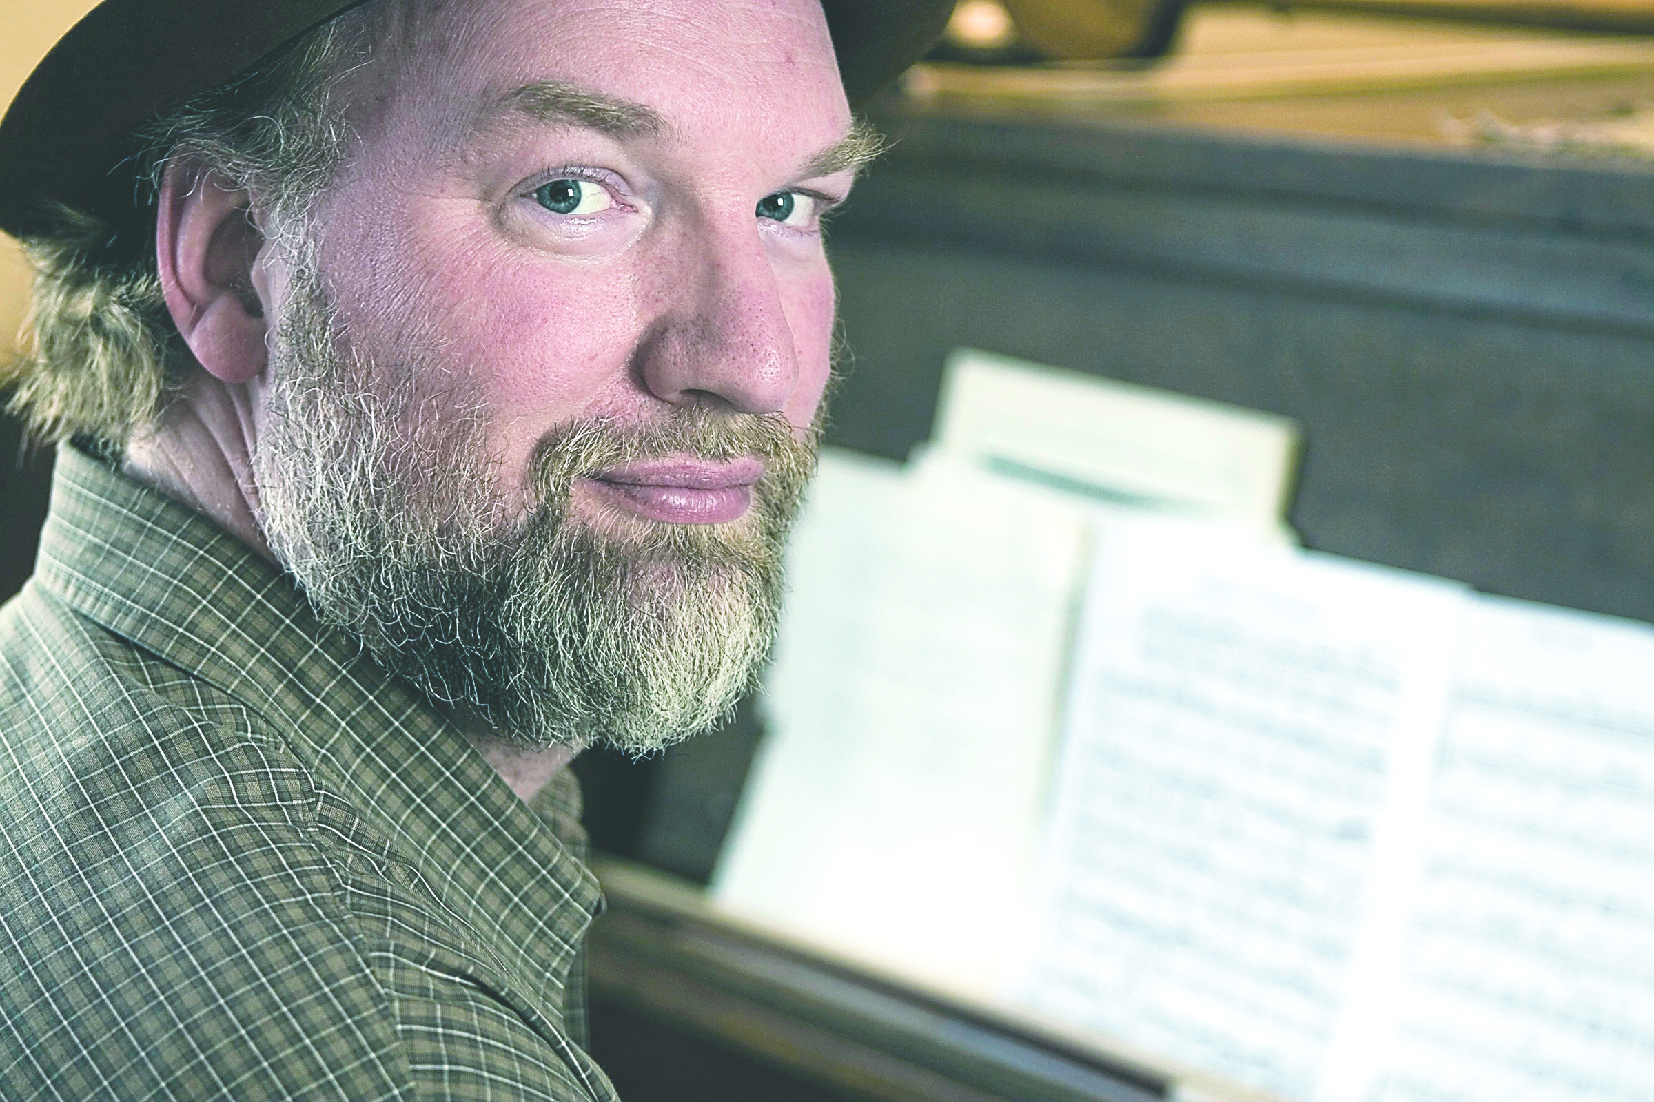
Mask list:
[[[253,279],[263,245],[245,188],[187,159],[167,165],[155,211],[160,291],[184,344],[227,383],[255,378],[270,360]]]

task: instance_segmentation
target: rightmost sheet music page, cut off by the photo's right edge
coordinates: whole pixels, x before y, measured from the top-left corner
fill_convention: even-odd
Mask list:
[[[1654,1097],[1654,628],[1475,603],[1383,1102]]]

